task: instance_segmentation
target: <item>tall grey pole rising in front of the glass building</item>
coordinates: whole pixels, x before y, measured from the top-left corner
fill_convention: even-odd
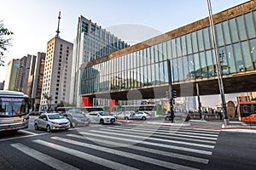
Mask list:
[[[224,85],[222,81],[222,68],[220,65],[220,59],[218,57],[218,44],[216,41],[216,35],[215,35],[215,29],[214,29],[214,23],[212,20],[212,5],[211,5],[211,0],[207,0],[207,5],[208,5],[208,11],[209,11],[209,20],[210,20],[210,27],[212,31],[212,44],[214,48],[214,54],[215,54],[215,59],[217,61],[217,76],[218,76],[218,88],[221,96],[221,102],[222,102],[222,110],[224,114],[224,125],[226,126],[228,124],[228,115],[227,115],[227,107],[226,107],[226,101],[225,101],[225,95],[224,95]]]

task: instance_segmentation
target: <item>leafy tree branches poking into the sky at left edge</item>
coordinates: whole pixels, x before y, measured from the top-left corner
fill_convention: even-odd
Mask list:
[[[0,66],[4,66],[3,52],[7,50],[8,46],[12,45],[10,36],[13,34],[12,31],[4,27],[3,20],[0,20]]]

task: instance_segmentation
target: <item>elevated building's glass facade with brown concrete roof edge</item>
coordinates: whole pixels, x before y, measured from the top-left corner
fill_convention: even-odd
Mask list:
[[[224,76],[255,73],[255,9],[255,1],[249,1],[212,16]],[[167,59],[174,84],[217,80],[208,17],[82,65],[80,95],[110,93],[112,99],[121,99],[113,94],[168,86]]]

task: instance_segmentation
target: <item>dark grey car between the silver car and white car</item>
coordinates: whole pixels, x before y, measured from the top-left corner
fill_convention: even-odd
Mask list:
[[[64,117],[70,122],[71,127],[89,126],[90,119],[81,112],[66,112]]]

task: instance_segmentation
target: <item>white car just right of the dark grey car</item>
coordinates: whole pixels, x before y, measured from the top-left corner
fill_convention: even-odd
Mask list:
[[[116,121],[114,116],[111,116],[108,112],[104,111],[91,111],[88,113],[87,117],[90,119],[90,122],[99,122],[101,124],[110,124]]]

